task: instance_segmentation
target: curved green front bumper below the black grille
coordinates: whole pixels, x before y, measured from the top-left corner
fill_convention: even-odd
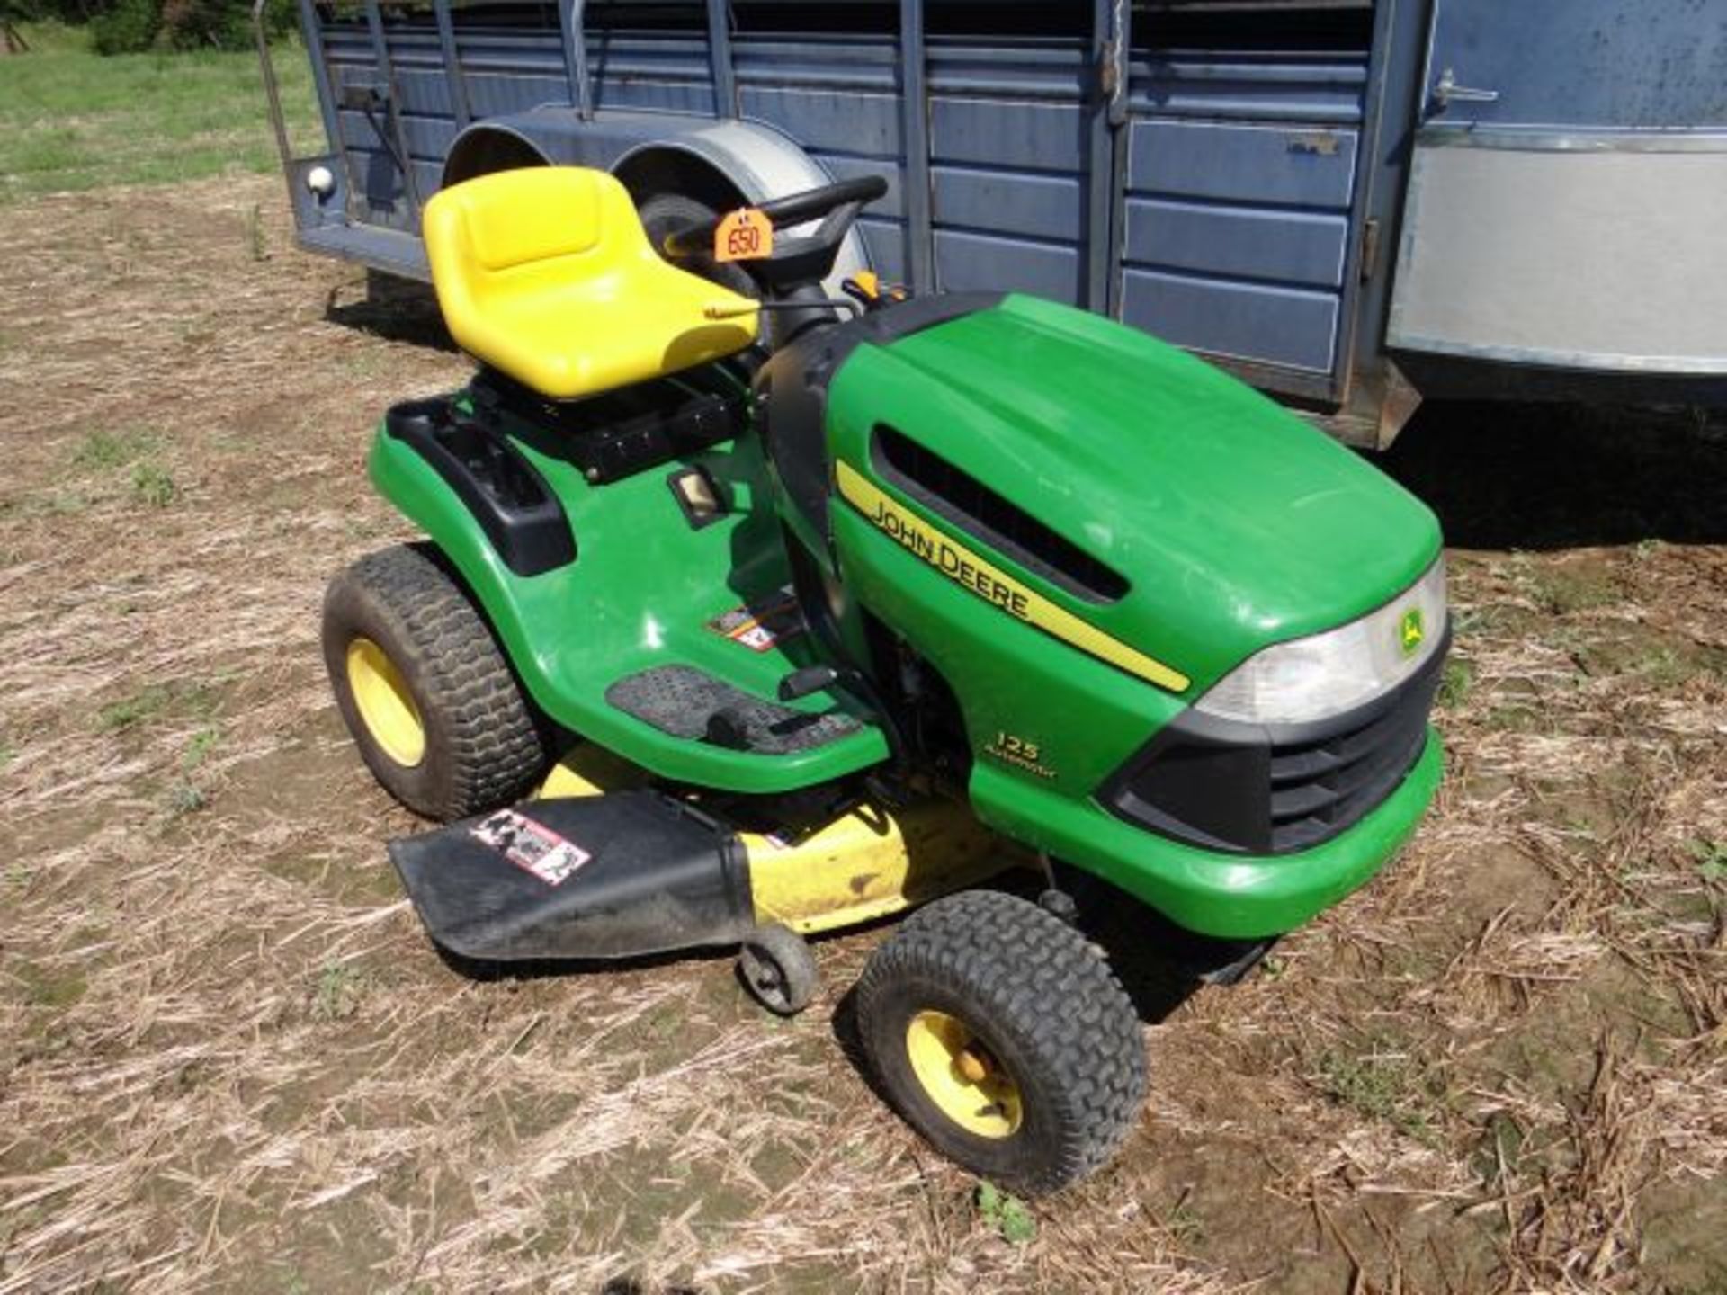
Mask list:
[[[972,803],[998,832],[1090,869],[1190,931],[1261,939],[1294,931],[1383,869],[1432,803],[1442,767],[1430,730],[1414,768],[1366,818],[1313,850],[1271,858],[1195,850],[986,763],[972,774]]]

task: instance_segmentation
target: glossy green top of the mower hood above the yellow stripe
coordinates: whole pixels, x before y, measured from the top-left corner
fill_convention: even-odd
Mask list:
[[[1371,611],[1440,547],[1425,504],[1252,388],[1031,297],[860,347],[829,395],[843,461],[879,478],[870,433],[893,426],[1124,577],[1126,596],[1098,604],[990,549],[1195,689]]]

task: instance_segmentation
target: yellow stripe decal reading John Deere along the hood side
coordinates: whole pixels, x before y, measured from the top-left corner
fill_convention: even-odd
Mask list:
[[[1045,634],[1072,644],[1100,661],[1109,661],[1117,670],[1147,679],[1171,692],[1186,691],[1190,680],[1180,670],[1171,670],[1162,661],[1154,661],[1145,653],[1109,637],[1095,625],[1088,625],[1066,608],[1059,608],[1050,599],[1028,589],[1000,566],[955,544],[922,518],[895,504],[850,463],[838,464],[838,478],[839,494],[870,525],[896,539],[907,553],[929,563],[955,584],[972,591],[984,603],[995,604],[1015,620],[1036,625]]]

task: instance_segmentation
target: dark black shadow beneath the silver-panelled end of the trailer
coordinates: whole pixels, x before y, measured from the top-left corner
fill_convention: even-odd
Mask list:
[[[1373,459],[1463,549],[1727,542],[1727,421],[1689,409],[1439,401]]]

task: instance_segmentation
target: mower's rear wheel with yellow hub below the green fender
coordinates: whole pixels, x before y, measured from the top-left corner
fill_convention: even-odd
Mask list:
[[[504,654],[423,547],[370,554],[330,582],[323,654],[361,758],[409,810],[465,818],[544,774],[541,725]]]

